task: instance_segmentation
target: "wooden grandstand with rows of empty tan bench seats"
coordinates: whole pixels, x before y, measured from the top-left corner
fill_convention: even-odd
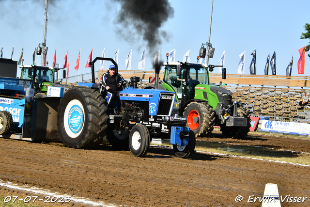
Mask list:
[[[106,71],[105,71],[106,72]],[[154,71],[119,70],[125,80],[138,76],[146,84],[149,77],[154,77]],[[98,78],[103,71],[98,72]],[[210,73],[211,83],[225,83],[226,89],[233,94],[233,101],[246,105],[253,116],[270,116],[270,120],[295,121],[298,112],[305,109],[299,107],[303,92],[310,96],[310,77],[308,76],[274,76],[274,75],[240,75],[227,74],[222,79],[222,74]],[[163,78],[163,71],[159,74]],[[309,120],[310,121],[310,120]]]

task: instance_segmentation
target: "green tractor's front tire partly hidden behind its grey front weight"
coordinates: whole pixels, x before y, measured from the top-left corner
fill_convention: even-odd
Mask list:
[[[226,127],[226,124],[221,125],[221,132],[224,137],[232,137],[235,139],[241,139],[248,135],[251,127],[250,111],[246,110],[243,106],[238,106],[237,114],[239,116],[245,117],[248,119],[247,127]]]

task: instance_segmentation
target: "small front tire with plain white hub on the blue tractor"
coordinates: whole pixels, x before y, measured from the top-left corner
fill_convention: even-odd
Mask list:
[[[144,157],[150,147],[150,133],[144,125],[135,125],[129,134],[129,148],[136,157]]]

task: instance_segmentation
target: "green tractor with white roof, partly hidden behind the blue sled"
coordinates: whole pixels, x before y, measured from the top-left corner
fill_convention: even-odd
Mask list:
[[[21,79],[33,79],[34,98],[47,96],[47,87],[55,86],[61,87],[60,82],[55,81],[55,72],[60,70],[55,67],[37,66],[37,65],[22,65],[21,67]],[[44,76],[45,74],[45,76]],[[63,73],[65,78],[65,72]]]

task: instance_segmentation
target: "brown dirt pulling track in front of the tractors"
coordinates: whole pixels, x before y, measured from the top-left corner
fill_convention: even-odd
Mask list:
[[[217,135],[208,140],[310,152],[308,140],[253,134],[245,140]],[[248,203],[248,198],[263,197],[266,183],[278,184],[283,197],[310,197],[310,167],[292,164],[202,153],[179,159],[172,149],[159,147],[150,147],[145,158],[135,158],[129,151],[103,145],[97,150],[79,150],[61,143],[2,138],[0,152],[1,180],[117,206],[261,207],[258,201]],[[0,186],[3,197],[18,193]],[[237,203],[238,195],[244,200]],[[62,206],[71,205],[82,206],[73,202]],[[281,203],[282,207],[296,205],[286,200]],[[298,206],[310,206],[310,198]]]

